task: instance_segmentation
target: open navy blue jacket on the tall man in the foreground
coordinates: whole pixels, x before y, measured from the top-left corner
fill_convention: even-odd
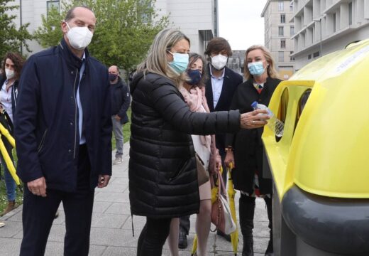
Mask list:
[[[91,188],[99,174],[111,175],[111,99],[107,68],[86,53],[79,84]],[[75,191],[79,149],[75,92],[82,60],[64,39],[32,55],[19,82],[15,114],[17,174],[23,182],[42,176],[48,188]]]

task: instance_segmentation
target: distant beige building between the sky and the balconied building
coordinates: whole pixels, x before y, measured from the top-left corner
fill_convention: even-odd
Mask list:
[[[265,23],[265,47],[270,50],[281,79],[287,80],[294,73],[293,8],[290,1],[268,0],[261,16]]]

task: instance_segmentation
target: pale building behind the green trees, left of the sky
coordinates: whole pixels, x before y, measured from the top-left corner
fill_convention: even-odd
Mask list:
[[[30,23],[28,31],[33,33],[42,25],[41,15],[46,15],[52,7],[60,8],[62,2],[70,0],[14,0],[11,5],[20,6],[9,12],[16,15],[17,25]],[[207,42],[217,36],[218,0],[156,0],[158,18],[169,15],[170,26],[180,28],[191,40],[191,50],[204,53]],[[29,42],[33,53],[42,50],[36,41]],[[23,51],[26,49],[23,49]]]

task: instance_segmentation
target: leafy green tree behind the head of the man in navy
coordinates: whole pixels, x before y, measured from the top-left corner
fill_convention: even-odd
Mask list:
[[[153,0],[79,0],[64,4],[61,14],[50,11],[43,16],[43,25],[35,32],[42,46],[60,41],[60,21],[73,5],[89,6],[97,17],[90,53],[105,65],[127,71],[141,63],[155,35],[169,24],[167,16],[158,18]]]

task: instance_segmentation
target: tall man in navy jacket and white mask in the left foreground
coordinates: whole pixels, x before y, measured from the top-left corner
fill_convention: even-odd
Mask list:
[[[58,46],[23,68],[15,115],[17,174],[25,183],[20,255],[44,255],[55,212],[65,211],[64,255],[88,255],[94,188],[111,176],[107,68],[89,56],[96,18],[68,11]]]

